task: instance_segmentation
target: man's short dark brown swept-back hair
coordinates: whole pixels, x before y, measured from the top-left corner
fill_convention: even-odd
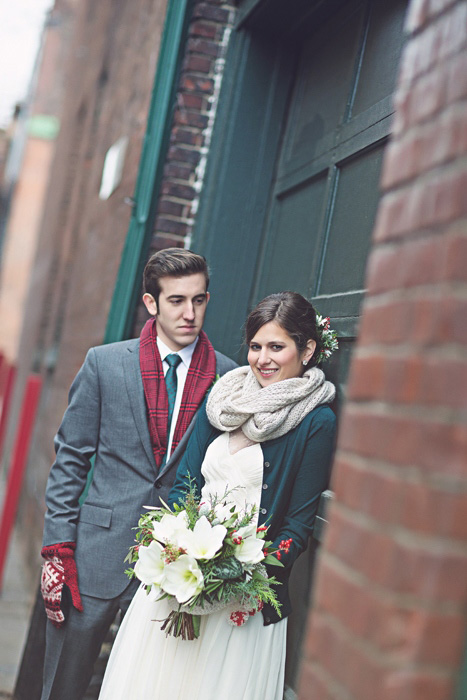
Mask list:
[[[209,287],[209,268],[206,258],[185,248],[164,248],[151,255],[143,273],[143,287],[146,294],[151,294],[156,303],[161,293],[162,277],[186,277],[201,272]]]

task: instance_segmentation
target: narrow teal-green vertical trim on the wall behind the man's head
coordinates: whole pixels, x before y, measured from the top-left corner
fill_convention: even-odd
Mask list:
[[[133,197],[133,213],[107,319],[104,343],[124,340],[131,334],[134,311],[141,289],[141,275],[151,242],[192,5],[193,0],[168,0],[167,3],[146,135]]]

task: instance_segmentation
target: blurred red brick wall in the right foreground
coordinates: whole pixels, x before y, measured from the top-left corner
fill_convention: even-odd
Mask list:
[[[412,0],[299,698],[454,698],[467,609],[467,3]]]

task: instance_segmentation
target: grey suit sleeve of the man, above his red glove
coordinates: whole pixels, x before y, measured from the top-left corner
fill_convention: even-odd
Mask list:
[[[91,349],[71,385],[68,408],[55,436],[56,459],[45,494],[44,546],[76,541],[79,498],[97,450],[100,413],[96,353]]]

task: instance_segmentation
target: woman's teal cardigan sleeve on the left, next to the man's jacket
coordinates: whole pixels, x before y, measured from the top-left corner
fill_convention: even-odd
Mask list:
[[[193,432],[188,441],[185,454],[178,465],[174,484],[170,490],[167,505],[172,507],[184,499],[188,492],[188,483],[191,479],[196,487],[196,494],[201,495],[204,485],[204,477],[201,473],[201,465],[204,455],[212,439],[219,434],[209,423],[206,415],[206,399],[200,406]]]

